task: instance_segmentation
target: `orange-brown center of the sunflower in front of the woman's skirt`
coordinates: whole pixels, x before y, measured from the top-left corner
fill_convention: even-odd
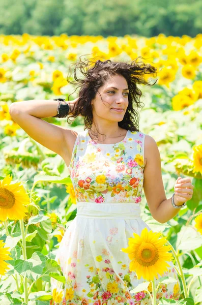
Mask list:
[[[142,242],[137,250],[136,260],[142,266],[152,266],[159,259],[158,250],[152,243]]]

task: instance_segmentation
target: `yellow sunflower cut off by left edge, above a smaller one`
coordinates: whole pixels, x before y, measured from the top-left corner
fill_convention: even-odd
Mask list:
[[[30,198],[21,182],[11,184],[12,176],[0,180],[0,220],[19,220],[25,217]]]

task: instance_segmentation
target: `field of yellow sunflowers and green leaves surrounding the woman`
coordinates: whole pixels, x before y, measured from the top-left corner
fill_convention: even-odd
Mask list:
[[[139,128],[157,142],[166,197],[174,192],[178,176],[191,178],[194,193],[167,223],[153,219],[142,193],[141,218],[158,238],[167,241],[166,249],[173,255],[180,279],[174,294],[159,304],[201,305],[202,34],[195,38],[163,34],[151,38],[0,35],[0,45],[0,303],[56,305],[63,298],[57,291],[51,294],[50,279],[65,281],[54,258],[76,216],[75,191],[64,160],[29,137],[11,118],[9,107],[25,100],[77,98],[67,75],[72,64],[85,55],[128,62],[141,56],[143,62],[158,69],[157,75],[145,76],[151,83],[158,79],[156,84],[140,88],[145,106],[140,111]],[[81,116],[70,125],[64,119],[44,119],[83,131]],[[124,281],[129,287],[127,278]],[[169,281],[162,280],[162,287]],[[144,284],[136,291],[151,293],[150,279]],[[71,301],[72,292],[66,295],[67,303],[76,305]],[[79,300],[78,304],[86,302]],[[150,304],[143,293],[138,304]]]

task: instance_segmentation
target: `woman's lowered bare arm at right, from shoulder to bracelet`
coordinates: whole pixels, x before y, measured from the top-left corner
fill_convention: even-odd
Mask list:
[[[149,153],[148,153],[149,152]],[[167,199],[163,186],[161,173],[161,158],[156,141],[149,135],[145,138],[145,154],[147,153],[147,165],[144,170],[143,189],[152,217],[160,223],[165,223],[174,218],[179,209],[171,204],[171,198]],[[175,200],[176,205],[178,204]]]

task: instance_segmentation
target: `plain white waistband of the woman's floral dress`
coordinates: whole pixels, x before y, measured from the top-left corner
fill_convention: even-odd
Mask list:
[[[77,217],[82,218],[140,218],[139,203],[93,203],[80,201],[77,202]]]

